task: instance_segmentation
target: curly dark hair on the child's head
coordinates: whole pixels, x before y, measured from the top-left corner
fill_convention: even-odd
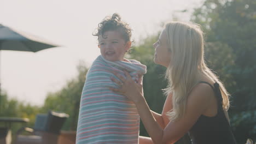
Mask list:
[[[121,21],[121,16],[118,13],[114,13],[112,17],[106,16],[101,23],[98,23],[96,33],[92,33],[94,36],[101,35],[103,37],[104,32],[107,31],[119,31],[123,35],[125,42],[131,41],[131,31],[129,24]]]

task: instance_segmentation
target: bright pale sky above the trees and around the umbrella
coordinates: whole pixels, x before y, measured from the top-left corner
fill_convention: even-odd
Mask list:
[[[119,13],[130,23],[133,39],[157,33],[173,15],[189,21],[202,0],[1,0],[0,23],[62,45],[36,53],[0,51],[1,89],[10,98],[42,105],[77,75],[79,61],[88,67],[100,55],[92,32],[107,15]],[[187,14],[177,11],[189,9]],[[138,42],[137,42],[138,43]],[[136,43],[135,43],[136,44]]]

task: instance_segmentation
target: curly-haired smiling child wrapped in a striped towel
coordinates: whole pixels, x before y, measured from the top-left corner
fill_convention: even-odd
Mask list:
[[[126,70],[136,82],[139,75],[146,74],[146,65],[124,58],[131,47],[131,28],[119,14],[113,14],[98,25],[94,35],[101,55],[86,74],[76,143],[138,143],[139,115],[135,104],[109,90],[122,85],[110,80],[117,78],[113,71],[124,76]]]

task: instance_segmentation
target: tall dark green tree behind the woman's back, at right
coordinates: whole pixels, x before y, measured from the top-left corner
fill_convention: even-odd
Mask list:
[[[230,117],[238,143],[244,143],[248,137],[256,140],[255,11],[256,1],[253,0],[206,0],[191,17],[205,30],[206,44],[219,43],[223,46],[214,47],[231,48],[232,61],[229,62],[232,63],[222,62],[224,69],[216,71],[232,95]],[[224,58],[229,56],[228,53],[219,52],[217,55]]]

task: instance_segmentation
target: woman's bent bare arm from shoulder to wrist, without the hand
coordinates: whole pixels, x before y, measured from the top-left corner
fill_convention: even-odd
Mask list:
[[[212,89],[208,86],[196,86],[188,97],[184,117],[178,121],[169,122],[164,129],[155,122],[144,97],[140,97],[136,101],[136,106],[144,127],[154,143],[174,143],[187,133],[203,111],[206,110],[209,104],[208,100],[210,96],[212,97],[211,93],[213,94]]]

